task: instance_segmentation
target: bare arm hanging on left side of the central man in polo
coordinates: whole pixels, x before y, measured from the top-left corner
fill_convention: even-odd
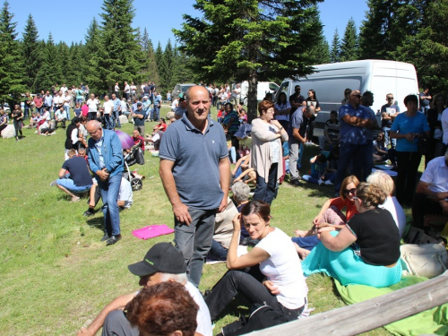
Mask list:
[[[226,158],[227,159],[227,158]],[[162,180],[163,188],[168,196],[168,200],[173,207],[176,219],[190,225],[192,218],[188,213],[188,206],[180,201],[179,194],[177,194],[176,182],[173,176],[174,161],[169,159],[160,159],[159,175]]]

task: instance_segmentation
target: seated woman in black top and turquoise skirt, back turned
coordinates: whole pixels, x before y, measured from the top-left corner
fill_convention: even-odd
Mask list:
[[[386,193],[361,183],[353,197],[358,209],[345,228],[319,228],[318,244],[302,263],[309,276],[325,272],[342,286],[388,287],[401,280],[400,234],[391,212],[381,209]]]

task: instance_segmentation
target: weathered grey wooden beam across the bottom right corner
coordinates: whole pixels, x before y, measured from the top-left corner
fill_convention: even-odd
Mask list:
[[[251,335],[357,335],[448,302],[448,271],[431,280]]]

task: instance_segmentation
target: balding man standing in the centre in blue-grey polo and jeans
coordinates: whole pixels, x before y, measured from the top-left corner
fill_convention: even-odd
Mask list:
[[[208,117],[209,91],[190,88],[186,104],[185,114],[163,135],[159,174],[173,207],[176,246],[197,287],[211,248],[216,211],[227,206],[230,167],[224,130]]]

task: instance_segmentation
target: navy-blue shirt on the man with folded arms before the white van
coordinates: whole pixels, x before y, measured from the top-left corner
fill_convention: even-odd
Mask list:
[[[369,119],[366,108],[359,105],[353,108],[351,104],[342,105],[339,109],[340,118],[340,142],[351,144],[366,144],[366,128],[347,124],[342,120],[343,116],[357,116],[361,119]]]

